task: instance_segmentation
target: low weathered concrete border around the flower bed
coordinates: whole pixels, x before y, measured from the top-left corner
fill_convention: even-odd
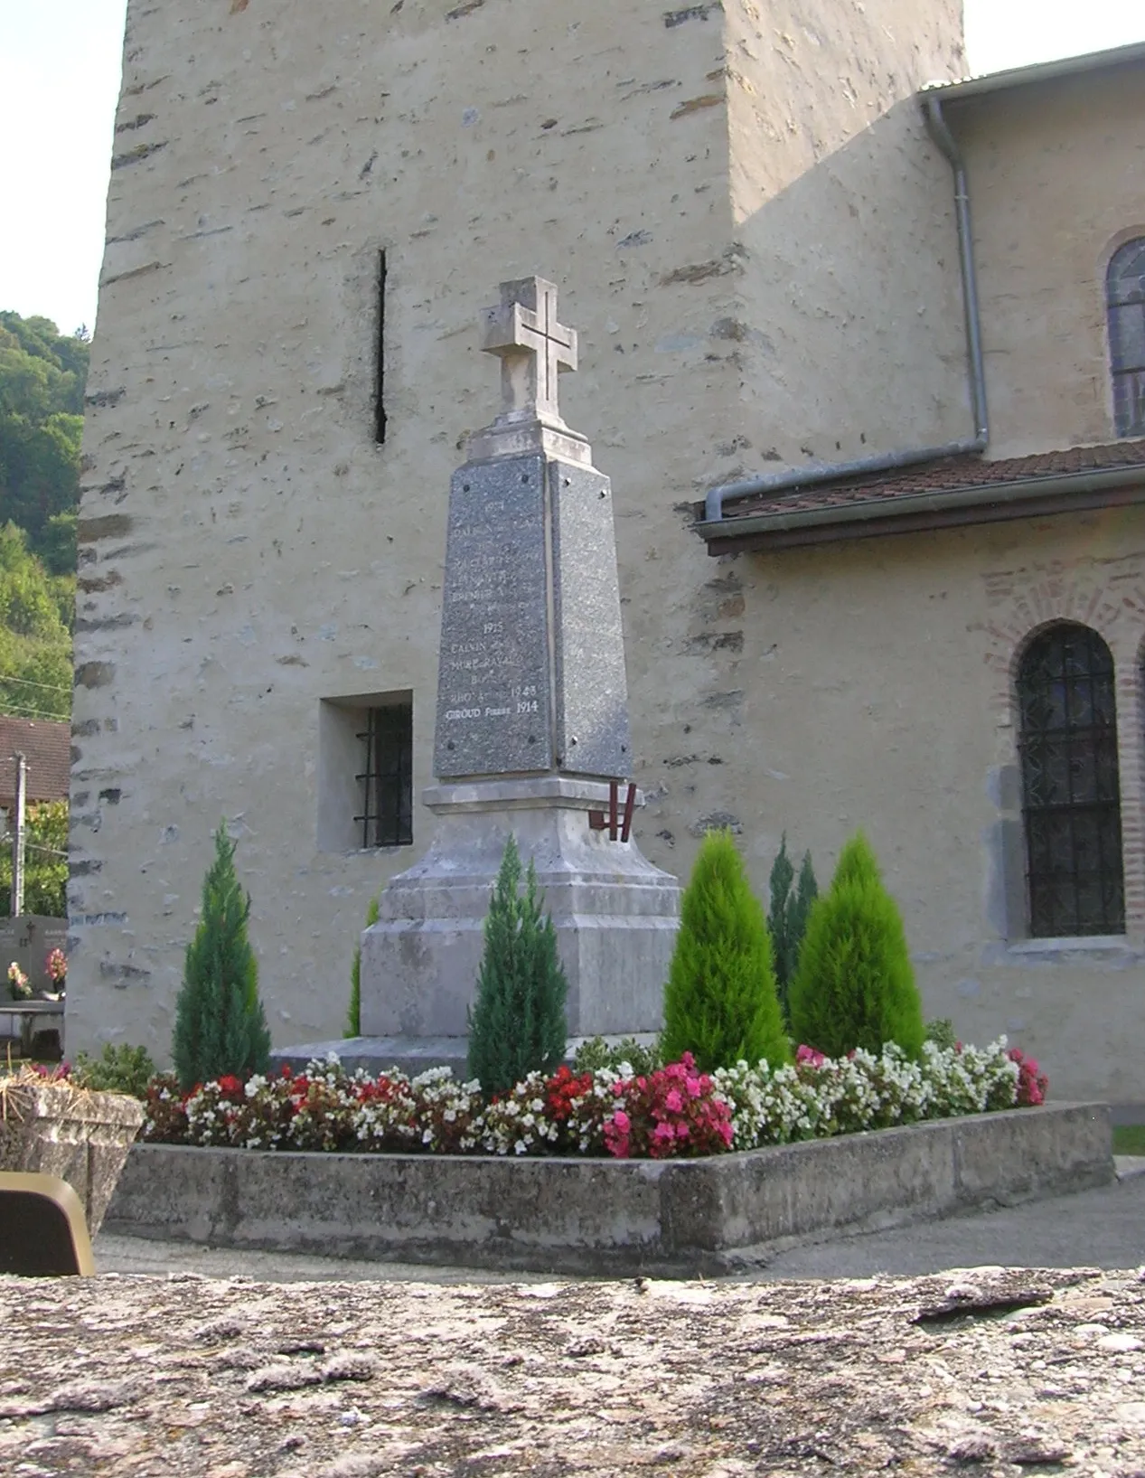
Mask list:
[[[718,1274],[793,1239],[1112,1179],[1105,1104],[1055,1104],[703,1160],[318,1154],[137,1144],[108,1231],[551,1273]]]

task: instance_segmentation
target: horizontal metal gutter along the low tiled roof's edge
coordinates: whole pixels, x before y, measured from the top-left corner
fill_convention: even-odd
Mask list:
[[[1058,473],[1050,477],[1024,477],[1021,482],[984,482],[974,488],[910,492],[891,498],[870,498],[866,503],[829,504],[820,508],[792,508],[789,513],[756,513],[742,519],[720,519],[717,522],[697,523],[696,531],[709,541],[733,538],[740,541],[793,529],[878,523],[889,519],[938,514],[975,507],[1016,507],[1014,517],[1022,517],[1021,505],[1042,498],[1105,492],[1133,485],[1139,486],[1141,500],[1132,501],[1145,501],[1145,464]],[[847,535],[842,537],[845,538]]]

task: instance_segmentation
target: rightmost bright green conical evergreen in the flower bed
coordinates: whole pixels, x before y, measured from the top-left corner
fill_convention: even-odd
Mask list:
[[[795,1041],[827,1057],[855,1046],[881,1052],[886,1042],[912,1057],[922,1051],[922,999],[903,916],[861,832],[811,907],[789,1004]]]

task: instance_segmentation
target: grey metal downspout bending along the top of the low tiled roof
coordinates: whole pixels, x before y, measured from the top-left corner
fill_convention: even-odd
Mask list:
[[[861,477],[866,473],[895,471],[917,463],[937,461],[941,457],[960,457],[966,452],[981,452],[990,443],[990,420],[985,405],[985,371],[982,367],[982,330],[978,310],[978,273],[974,265],[974,234],[971,229],[971,198],[966,186],[966,161],[943,117],[943,105],[935,93],[923,99],[926,130],[950,161],[954,174],[954,222],[959,235],[959,270],[962,275],[962,306],[966,319],[966,370],[971,386],[971,408],[974,411],[974,436],[944,446],[922,446],[909,451],[883,452],[863,457],[857,461],[835,463],[829,467],[805,467],[799,471],[773,473],[762,477],[748,477],[743,482],[727,482],[711,488],[705,501],[705,523],[720,523],[724,517],[724,503],[728,498],[749,497],[759,492],[783,492],[792,488],[814,486],[835,482],[839,477]]]

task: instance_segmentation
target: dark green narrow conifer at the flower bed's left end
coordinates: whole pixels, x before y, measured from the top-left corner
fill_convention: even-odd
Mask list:
[[[171,1055],[183,1089],[223,1073],[247,1077],[264,1072],[269,1061],[259,965],[247,939],[251,900],[235,873],[235,845],[220,822],[176,1001]]]

